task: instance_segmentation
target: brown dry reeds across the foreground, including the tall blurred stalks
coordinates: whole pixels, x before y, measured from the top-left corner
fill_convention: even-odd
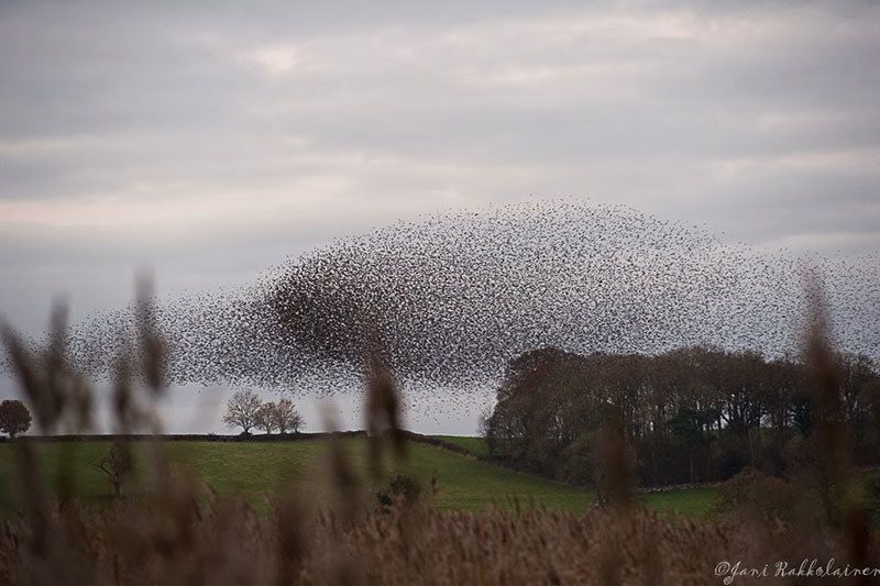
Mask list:
[[[114,424],[120,433],[155,434],[146,475],[152,489],[87,508],[72,497],[76,469],[59,458],[58,486],[48,490],[37,454],[14,442],[21,510],[0,531],[0,583],[32,585],[288,585],[288,584],[721,584],[721,562],[744,567],[816,557],[859,567],[876,563],[859,500],[847,497],[843,516],[829,505],[828,522],[751,515],[690,519],[634,505],[628,450],[619,427],[607,430],[601,458],[613,505],[586,513],[541,507],[441,512],[428,502],[370,504],[345,452],[328,446],[326,465],[336,498],[318,506],[295,485],[279,491],[267,512],[237,498],[202,498],[202,487],[165,457],[155,402],[164,388],[165,344],[152,327],[142,287],[138,340],[117,357]],[[45,350],[25,347],[9,329],[3,340],[44,433],[90,428],[92,395],[66,358],[65,312],[53,318]],[[827,414],[821,436],[829,487],[848,476],[835,428],[834,374],[827,344],[816,330],[811,352],[818,405]],[[392,374],[377,358],[369,368],[367,469],[383,474],[383,453],[404,457],[399,398]],[[828,396],[826,396],[828,395]],[[65,444],[67,445],[67,444]],[[76,443],[69,444],[76,450]],[[120,462],[130,446],[114,445]],[[120,474],[135,474],[122,466]],[[442,486],[440,487],[442,489]],[[51,497],[51,494],[57,497]],[[501,495],[499,495],[501,497]],[[772,572],[772,566],[771,570]],[[857,578],[869,583],[871,578]],[[736,584],[766,583],[756,576]],[[796,582],[796,581],[794,581]],[[838,581],[839,582],[839,581]]]

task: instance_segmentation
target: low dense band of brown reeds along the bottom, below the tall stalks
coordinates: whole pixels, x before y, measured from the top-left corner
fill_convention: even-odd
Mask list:
[[[51,518],[58,532],[45,549],[4,535],[3,551],[21,555],[0,560],[0,573],[41,584],[703,585],[721,583],[721,560],[762,564],[767,555],[801,560],[817,550],[847,559],[834,534],[765,534],[739,522],[645,512],[474,516],[396,505],[316,515],[286,501],[261,516],[234,501],[196,509],[188,497],[175,489],[138,507],[63,510]],[[756,552],[758,540],[779,545]]]

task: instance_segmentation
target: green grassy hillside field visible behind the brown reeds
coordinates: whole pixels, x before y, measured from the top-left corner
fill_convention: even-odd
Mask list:
[[[444,438],[451,441],[449,438]],[[465,446],[480,450],[477,438],[458,438]],[[135,443],[139,461],[144,461],[147,446]],[[349,460],[364,483],[369,484],[364,467],[363,439],[343,440]],[[327,446],[321,440],[292,442],[166,442],[164,447],[170,458],[219,495],[239,494],[257,508],[265,506],[266,497],[276,490],[301,489],[323,498],[327,483],[323,466]],[[111,488],[98,463],[109,451],[110,442],[44,443],[37,446],[44,476],[53,482],[58,465],[65,463],[76,472],[74,494],[85,500],[101,501],[110,498]],[[15,506],[14,454],[9,444],[0,445],[0,502],[6,509]],[[480,510],[497,504],[508,507],[516,497],[522,504],[535,502],[551,509],[584,510],[592,506],[594,496],[571,486],[538,476],[503,468],[473,457],[427,444],[409,443],[408,457],[392,464],[396,472],[418,478],[428,486],[437,479],[435,504],[441,509]],[[371,491],[381,485],[370,486]],[[135,490],[136,488],[129,488]],[[678,490],[640,497],[646,506],[661,510],[701,513],[713,502],[714,493],[706,489]]]

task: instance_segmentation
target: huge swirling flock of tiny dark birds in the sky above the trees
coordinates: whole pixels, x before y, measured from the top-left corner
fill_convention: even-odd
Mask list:
[[[574,202],[400,222],[308,252],[250,286],[165,303],[155,319],[175,383],[333,392],[358,387],[378,352],[405,387],[466,402],[461,389],[497,380],[508,360],[541,346],[794,353],[807,268],[825,281],[840,346],[880,355],[876,257],[758,252],[629,208]],[[134,314],[78,324],[74,356],[108,372]]]

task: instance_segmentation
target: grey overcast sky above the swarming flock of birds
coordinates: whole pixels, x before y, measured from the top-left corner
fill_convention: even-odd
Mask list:
[[[139,266],[211,288],[530,197],[880,250],[878,3],[131,4],[0,3],[0,312],[26,331],[57,294],[124,303]]]

